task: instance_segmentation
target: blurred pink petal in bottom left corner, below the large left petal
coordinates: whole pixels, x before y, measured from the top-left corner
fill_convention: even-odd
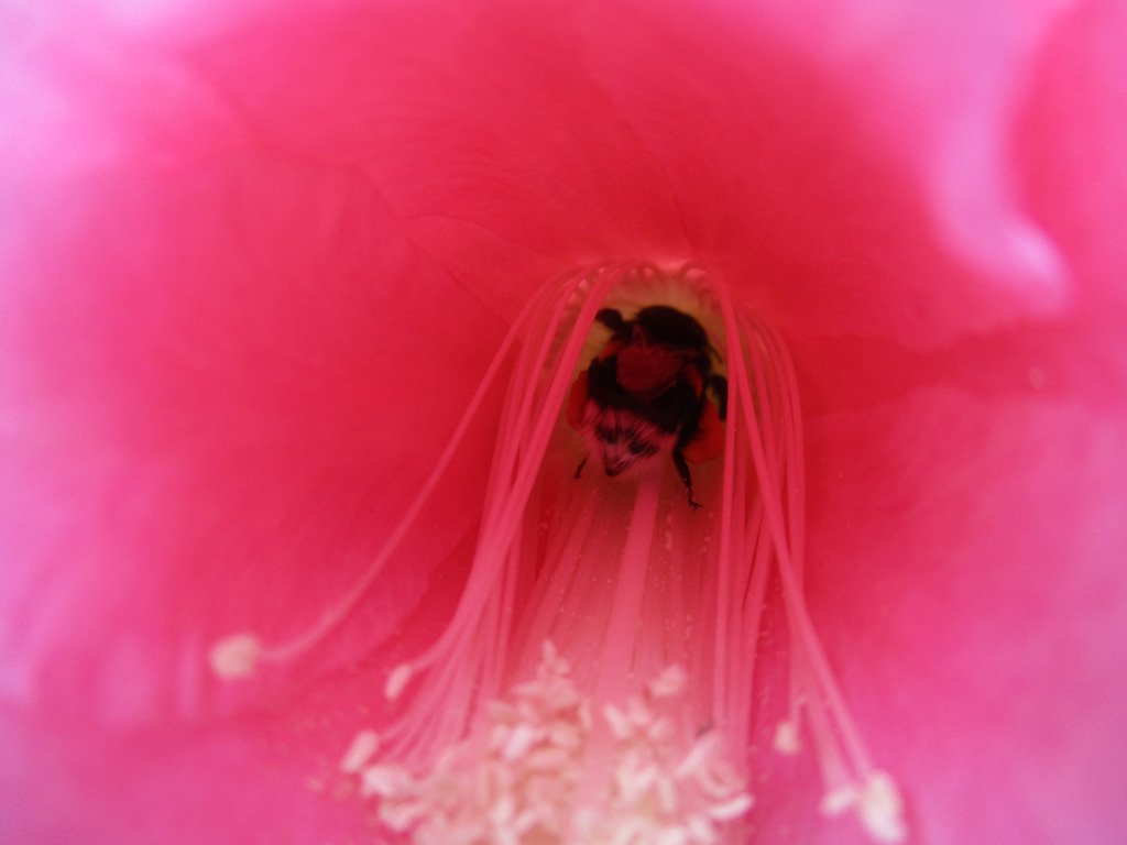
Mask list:
[[[233,845],[355,835],[355,813],[316,791],[310,756],[264,751],[267,739],[240,722],[59,731],[5,709],[0,837]]]

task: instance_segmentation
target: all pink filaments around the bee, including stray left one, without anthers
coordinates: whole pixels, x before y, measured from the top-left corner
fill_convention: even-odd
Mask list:
[[[718,484],[715,470],[696,471],[702,489],[711,491],[710,507],[699,514],[687,509],[667,466],[645,474],[636,489],[600,481],[597,473],[576,481],[566,466],[574,447],[560,425],[561,409],[597,310],[612,291],[653,287],[658,296],[663,284],[695,295],[724,327],[725,452]],[[650,265],[605,265],[538,295],[372,567],[318,626],[267,649],[267,659],[310,648],[355,608],[445,472],[518,333],[524,343],[503,409],[472,568],[443,633],[397,669],[412,690],[409,705],[381,731],[383,754],[427,768],[470,733],[486,701],[532,671],[541,643],[553,641],[596,702],[623,701],[639,679],[687,666],[683,730],[692,736],[715,723],[742,758],[774,569],[791,639],[789,723],[798,730],[807,714],[831,792],[859,791],[873,767],[802,597],[805,465],[793,368],[779,338],[692,265],[674,276]],[[394,677],[401,687],[400,675]],[[609,765],[600,744],[594,746],[586,762],[588,791]],[[580,801],[597,795],[583,793]]]

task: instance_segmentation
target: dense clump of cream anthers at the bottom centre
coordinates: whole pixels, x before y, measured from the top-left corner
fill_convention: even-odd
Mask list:
[[[668,667],[596,718],[544,643],[534,678],[489,702],[426,775],[387,764],[343,771],[383,824],[419,845],[721,842],[753,800],[718,736],[678,728],[685,681]]]

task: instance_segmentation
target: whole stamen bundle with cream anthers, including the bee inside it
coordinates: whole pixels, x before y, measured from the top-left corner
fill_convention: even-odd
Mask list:
[[[218,643],[215,671],[287,662],[352,613],[511,358],[458,607],[387,676],[399,715],[358,733],[341,765],[381,821],[419,845],[746,842],[773,577],[790,641],[775,750],[808,735],[822,811],[853,809],[873,840],[903,840],[899,795],[806,608],[790,357],[695,265],[600,265],[541,291],[361,581],[292,642]]]

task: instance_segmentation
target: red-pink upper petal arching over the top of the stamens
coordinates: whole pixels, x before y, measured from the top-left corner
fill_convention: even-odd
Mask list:
[[[1011,207],[1014,174],[995,154],[1017,112],[1002,80],[1039,43],[1005,20],[992,24],[1005,50],[984,45],[967,68],[948,45],[976,32],[969,9],[929,36],[946,80],[935,109],[921,91],[893,96],[915,66],[895,39],[841,78],[829,46],[780,41],[746,12],[423,8],[283,17],[194,48],[193,65],[270,145],[362,168],[416,242],[499,311],[521,302],[506,279],[609,255],[721,263],[800,333],[840,330],[848,306],[853,330],[933,344],[1071,296],[1063,268],[995,237],[1040,237]],[[373,48],[385,32],[394,41]],[[988,125],[960,82],[987,65]],[[941,164],[968,123],[995,152]],[[985,228],[996,255],[970,242],[952,254]],[[863,294],[851,287],[862,275]]]

